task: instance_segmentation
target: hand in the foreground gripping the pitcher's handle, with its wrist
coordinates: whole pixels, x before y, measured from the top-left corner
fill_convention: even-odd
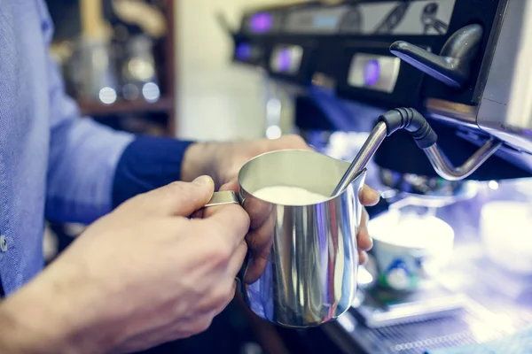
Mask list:
[[[207,329],[234,296],[249,219],[202,178],[136,196],[0,305],[0,352],[123,352]]]

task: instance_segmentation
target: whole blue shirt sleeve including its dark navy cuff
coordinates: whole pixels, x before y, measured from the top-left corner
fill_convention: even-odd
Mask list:
[[[49,44],[51,19],[39,4]],[[66,96],[51,58],[47,65],[51,110],[47,219],[88,224],[132,196],[179,180],[184,151],[192,142],[134,136],[82,118],[77,104]]]

